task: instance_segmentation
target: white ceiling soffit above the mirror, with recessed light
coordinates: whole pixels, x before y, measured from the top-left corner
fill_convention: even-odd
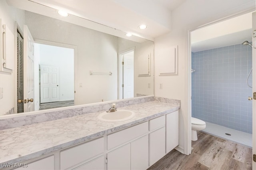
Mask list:
[[[32,0],[75,16],[154,40],[171,31],[171,10],[184,0]],[[146,24],[147,29],[138,29]]]

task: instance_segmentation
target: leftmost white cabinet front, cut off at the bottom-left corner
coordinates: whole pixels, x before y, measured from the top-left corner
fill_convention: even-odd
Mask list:
[[[24,166],[16,170],[54,170],[54,156],[28,163],[27,167]]]

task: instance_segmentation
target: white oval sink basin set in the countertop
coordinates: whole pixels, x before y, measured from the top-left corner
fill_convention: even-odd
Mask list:
[[[117,110],[113,112],[100,113],[98,119],[102,121],[114,122],[114,121],[126,121],[134,117],[135,113],[130,110]]]

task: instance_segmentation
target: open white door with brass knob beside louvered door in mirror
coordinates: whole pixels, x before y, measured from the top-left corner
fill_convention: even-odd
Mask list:
[[[24,25],[24,112],[34,111],[34,39]]]

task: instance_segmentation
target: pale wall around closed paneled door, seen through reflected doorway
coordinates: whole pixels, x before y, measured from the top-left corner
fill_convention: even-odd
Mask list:
[[[74,49],[39,44],[40,65],[59,68],[59,101],[74,100]]]

